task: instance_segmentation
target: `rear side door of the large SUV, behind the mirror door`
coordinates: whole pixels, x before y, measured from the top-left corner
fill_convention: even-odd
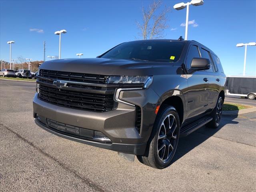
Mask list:
[[[206,72],[208,79],[208,109],[212,110],[216,106],[216,102],[219,96],[220,77],[218,75],[216,67],[214,66],[214,62],[212,60],[210,52],[205,48],[200,47],[200,53],[202,58],[207,58],[211,62],[210,68],[208,70],[204,70],[204,72]]]

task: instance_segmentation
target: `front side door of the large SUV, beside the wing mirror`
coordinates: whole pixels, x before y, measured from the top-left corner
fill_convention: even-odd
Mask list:
[[[197,45],[191,45],[186,57],[186,70],[188,79],[188,94],[187,94],[187,116],[191,118],[200,118],[208,109],[208,82],[206,78],[208,73],[202,70],[192,70],[191,62],[195,57],[200,57],[199,48]]]

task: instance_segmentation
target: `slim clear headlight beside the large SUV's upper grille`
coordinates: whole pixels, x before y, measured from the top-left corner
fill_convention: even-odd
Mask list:
[[[148,88],[153,81],[152,76],[110,76],[108,84],[144,84]]]

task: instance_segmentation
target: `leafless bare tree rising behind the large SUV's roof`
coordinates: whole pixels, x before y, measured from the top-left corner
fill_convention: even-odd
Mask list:
[[[140,36],[144,39],[159,39],[164,37],[164,30],[169,26],[166,24],[166,14],[170,12],[170,7],[165,7],[159,14],[156,14],[162,5],[160,0],[154,1],[145,10],[142,6],[142,24],[137,22],[138,28],[140,29]]]

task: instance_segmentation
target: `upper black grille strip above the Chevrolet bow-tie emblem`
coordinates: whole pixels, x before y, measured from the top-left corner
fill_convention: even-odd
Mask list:
[[[44,78],[50,78],[54,80],[68,80],[75,82],[95,83],[95,84],[106,84],[108,76],[98,74],[86,74],[86,73],[75,73],[75,72],[63,72],[40,69],[39,76]]]

